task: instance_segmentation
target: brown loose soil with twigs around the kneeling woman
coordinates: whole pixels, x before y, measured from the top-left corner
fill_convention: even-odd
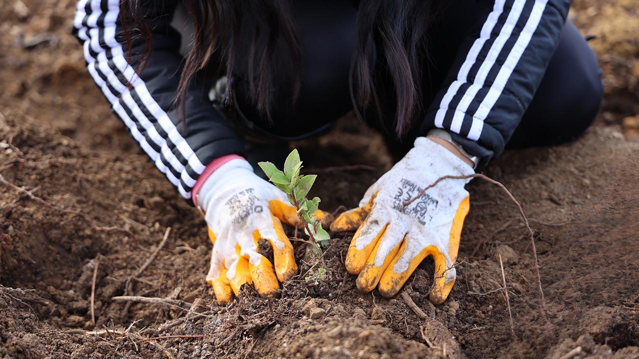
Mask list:
[[[426,313],[421,318],[403,296],[357,291],[343,266],[351,234],[332,240],[323,278],[311,270],[272,301],[247,287],[219,307],[204,282],[204,222],[89,79],[68,34],[73,1],[25,0],[26,13],[20,1],[4,1],[0,174],[47,204],[0,185],[0,358],[558,359],[578,347],[574,358],[639,358],[639,141],[621,127],[639,112],[635,3],[581,0],[571,13],[585,34],[599,35],[591,44],[608,87],[596,126],[565,146],[507,151],[486,171],[530,220],[545,301],[516,206],[475,179],[449,300],[428,301],[432,261],[404,289]],[[36,36],[49,40],[33,45]],[[355,206],[391,164],[380,135],[351,118],[296,146],[306,171],[319,174],[314,195],[328,211]],[[203,316],[111,299],[125,292],[167,227],[166,246],[132,282],[132,294],[194,303]],[[302,258],[304,248],[296,248]],[[514,334],[503,291],[495,291],[498,254]],[[308,268],[302,264],[302,273]],[[167,335],[196,337],[139,342]]]

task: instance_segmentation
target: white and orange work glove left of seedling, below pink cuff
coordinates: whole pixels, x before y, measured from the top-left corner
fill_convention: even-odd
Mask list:
[[[286,194],[259,178],[249,162],[233,159],[217,168],[197,192],[213,242],[206,281],[220,304],[253,283],[261,296],[273,296],[279,282],[297,272],[293,246],[282,222],[299,223]],[[273,247],[273,264],[258,252],[258,240]],[[279,280],[279,282],[278,282]]]

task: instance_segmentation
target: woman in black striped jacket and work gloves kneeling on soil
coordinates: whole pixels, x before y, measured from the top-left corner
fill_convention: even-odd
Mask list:
[[[331,225],[357,229],[346,267],[360,290],[393,296],[433,256],[430,298],[442,303],[470,179],[404,201],[442,176],[472,174],[507,144],[559,144],[590,125],[600,72],[568,9],[567,0],[80,0],[74,34],[113,111],[203,212],[214,244],[206,279],[220,303],[246,282],[276,293],[297,271],[281,224],[295,224],[295,211],[247,160],[351,109],[406,155]]]

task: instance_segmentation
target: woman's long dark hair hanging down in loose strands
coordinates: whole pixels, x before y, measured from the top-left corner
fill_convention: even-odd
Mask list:
[[[128,0],[133,27],[125,25],[129,46],[130,31],[135,29],[147,44],[146,53],[138,64],[142,68],[150,56],[151,29],[141,13],[141,1]],[[291,103],[295,103],[300,89],[301,51],[291,16],[291,0],[181,0],[194,24],[192,48],[185,57],[176,104],[184,109],[185,94],[199,70],[205,68],[214,53],[219,53],[227,75],[224,98],[231,101],[238,72],[247,77],[249,97],[258,111],[270,119],[275,91],[273,57],[284,50],[296,66],[291,75],[293,88]],[[125,6],[122,1],[122,6]],[[398,137],[410,129],[413,118],[422,109],[422,68],[427,61],[427,31],[438,11],[436,0],[360,0],[357,10],[357,43],[351,60],[350,88],[355,112],[360,119],[364,113],[383,116],[380,98],[394,95],[395,132]],[[123,8],[123,10],[125,10]],[[127,11],[122,11],[125,13]],[[254,36],[249,44],[247,61],[238,61],[238,38],[242,21],[254,15]],[[375,53],[371,45],[375,45]],[[282,46],[285,45],[285,46]],[[238,68],[242,63],[243,68]],[[392,80],[394,88],[383,89],[381,82]],[[281,79],[279,79],[281,80]],[[372,109],[373,111],[366,111]],[[366,112],[365,112],[366,111]],[[184,112],[183,112],[184,113]]]

